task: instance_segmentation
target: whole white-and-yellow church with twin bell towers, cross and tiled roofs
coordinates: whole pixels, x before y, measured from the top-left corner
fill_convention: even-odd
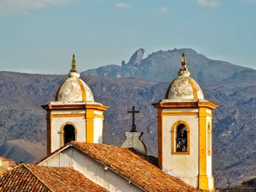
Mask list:
[[[214,191],[211,121],[217,105],[203,98],[200,86],[189,75],[186,56],[182,55],[178,77],[170,83],[165,98],[153,104],[158,110],[155,165],[147,159],[134,117],[122,147],[102,144],[108,107],[94,101],[89,86],[80,79],[73,55],[72,69],[55,101],[42,106],[47,111],[48,156],[35,166],[20,165],[1,174],[0,189],[22,189],[20,183],[33,177],[40,188],[56,191],[61,177],[67,180],[66,173],[73,172],[83,175],[77,181],[79,188],[67,181],[69,187],[64,191],[93,191],[92,186],[102,191]],[[132,115],[135,112],[133,107]],[[16,177],[17,170],[30,174]],[[45,180],[42,171],[51,177]]]

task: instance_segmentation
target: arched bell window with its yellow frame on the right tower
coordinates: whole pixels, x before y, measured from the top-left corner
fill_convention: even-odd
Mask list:
[[[178,120],[173,124],[171,130],[172,140],[172,154],[176,155],[188,155],[190,152],[190,129],[189,125],[183,121]]]

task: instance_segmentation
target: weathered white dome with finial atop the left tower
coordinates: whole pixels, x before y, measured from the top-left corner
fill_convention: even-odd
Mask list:
[[[58,89],[55,101],[94,101],[91,89],[79,77],[80,74],[75,69],[75,55],[73,55],[69,77]]]

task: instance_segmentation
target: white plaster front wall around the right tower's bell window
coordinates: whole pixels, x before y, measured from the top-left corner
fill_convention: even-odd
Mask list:
[[[184,120],[190,128],[190,154],[171,154],[171,128],[178,120]],[[170,170],[186,183],[198,185],[198,117],[197,115],[170,115],[162,120],[162,158],[163,168]]]

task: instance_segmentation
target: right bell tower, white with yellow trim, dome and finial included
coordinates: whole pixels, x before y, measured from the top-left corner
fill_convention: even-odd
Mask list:
[[[158,164],[170,174],[200,190],[214,190],[212,174],[212,118],[217,104],[203,98],[189,77],[186,56],[167,88],[158,110]]]

